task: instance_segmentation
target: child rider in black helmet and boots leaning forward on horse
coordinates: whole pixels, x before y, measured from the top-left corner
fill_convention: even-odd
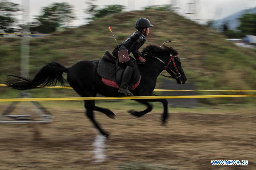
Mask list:
[[[135,22],[135,28],[137,31],[135,31],[130,37],[127,38],[127,40],[123,41],[120,45],[119,48],[120,50],[128,50],[128,54],[132,53],[135,59],[139,59],[141,62],[145,62],[146,59],[141,57],[141,53],[139,52],[139,48],[144,44],[146,41],[146,37],[149,33],[149,27],[153,27],[150,23],[150,21],[146,18],[140,18]],[[118,58],[118,51],[119,51],[118,46],[115,47],[113,50],[112,54],[113,56]],[[131,59],[128,61],[122,63],[121,65],[125,66],[125,70],[123,72],[123,76],[121,79],[121,85],[119,87],[118,92],[124,93],[128,96],[133,96],[133,94],[128,90],[129,86],[129,81],[131,79],[131,76],[133,75],[133,70],[135,68],[134,63],[133,63],[133,58],[129,56]]]

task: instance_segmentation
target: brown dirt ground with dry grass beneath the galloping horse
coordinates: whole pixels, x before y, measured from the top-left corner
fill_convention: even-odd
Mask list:
[[[161,126],[160,112],[135,118],[115,110],[115,120],[95,112],[112,138],[105,141],[102,162],[94,156],[99,133],[84,111],[49,111],[55,116],[50,124],[0,125],[0,169],[256,169],[254,111],[170,108],[166,127]],[[211,165],[211,160],[248,160],[248,165]]]

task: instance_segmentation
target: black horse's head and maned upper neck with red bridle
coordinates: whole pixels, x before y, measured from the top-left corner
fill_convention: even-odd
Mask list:
[[[172,47],[167,47],[163,45],[160,48],[155,45],[149,45],[143,50],[144,55],[153,56],[157,58],[162,65],[165,65],[163,70],[166,70],[172,78],[176,79],[178,84],[185,84],[187,78],[181,66],[181,61],[179,59],[179,54]]]

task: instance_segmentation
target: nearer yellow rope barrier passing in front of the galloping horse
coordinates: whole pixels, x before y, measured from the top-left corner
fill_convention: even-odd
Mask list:
[[[184,98],[221,98],[256,97],[256,95],[191,95],[191,96],[134,96],[134,97],[59,97],[59,98],[16,98],[0,99],[0,102],[12,101],[57,101],[57,100],[116,100],[116,99],[184,99]]]

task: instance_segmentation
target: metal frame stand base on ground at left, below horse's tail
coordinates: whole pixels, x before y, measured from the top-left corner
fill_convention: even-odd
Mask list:
[[[33,98],[29,93],[27,92],[21,92],[17,98]],[[37,107],[40,111],[44,112],[43,114],[38,114],[35,116],[32,115],[10,115],[15,108],[16,105],[19,103],[19,101],[14,101],[9,105],[3,114],[0,116],[0,123],[50,123],[52,122],[54,116],[48,112],[40,103],[37,101],[31,101],[33,105]]]

